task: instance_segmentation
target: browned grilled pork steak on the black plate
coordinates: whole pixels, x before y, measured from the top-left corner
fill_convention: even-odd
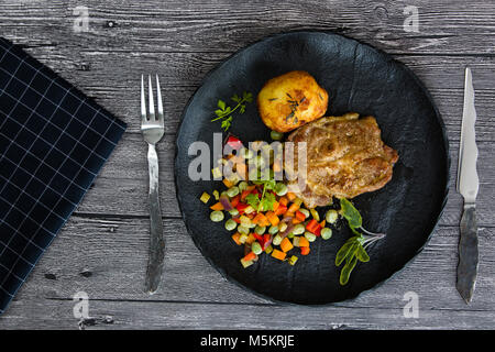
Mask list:
[[[398,160],[397,152],[383,143],[375,118],[359,119],[358,113],[321,118],[290,133],[287,141],[295,142],[294,160],[286,153],[284,161],[292,178],[299,172],[297,142],[307,143],[306,177],[299,175],[288,188],[308,208],[384,187]]]

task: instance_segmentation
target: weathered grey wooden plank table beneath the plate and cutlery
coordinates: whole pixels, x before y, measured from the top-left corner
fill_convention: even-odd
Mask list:
[[[84,9],[76,10],[79,6],[89,13],[87,31],[74,26],[84,14]],[[409,6],[418,11],[417,28]],[[372,44],[424,80],[447,125],[452,180],[463,69],[471,66],[481,187],[480,273],[469,306],[455,290],[462,198],[454,182],[425,250],[392,279],[353,301],[318,308],[274,305],[227,282],[193,244],[173,176],[184,106],[201,78],[233,52],[270,34],[304,29],[336,31]],[[494,1],[0,0],[0,35],[129,124],[94,188],[0,317],[0,329],[77,329],[73,297],[80,292],[89,297],[90,318],[82,321],[87,329],[495,328]],[[147,166],[138,118],[140,75],[148,73],[162,78],[166,120],[158,147],[167,244],[162,288],[154,296],[143,293]],[[417,318],[404,314],[415,294]]]

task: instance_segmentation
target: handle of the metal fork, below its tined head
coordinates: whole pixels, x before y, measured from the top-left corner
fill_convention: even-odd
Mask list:
[[[147,262],[145,288],[153,294],[162,277],[165,242],[163,239],[162,210],[158,193],[158,155],[154,144],[148,143],[147,164],[150,170],[150,258]]]

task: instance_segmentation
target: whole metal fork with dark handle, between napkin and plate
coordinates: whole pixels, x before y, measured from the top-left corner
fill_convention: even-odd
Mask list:
[[[163,271],[163,258],[165,242],[163,239],[162,210],[160,208],[158,194],[158,155],[156,154],[156,143],[164,134],[163,102],[160,88],[158,75],[156,75],[156,102],[157,113],[155,116],[155,105],[153,101],[153,87],[151,76],[148,76],[148,113],[146,114],[146,102],[144,97],[144,77],[141,75],[141,132],[147,143],[147,164],[150,170],[150,258],[147,262],[145,290],[154,294],[158,288]]]

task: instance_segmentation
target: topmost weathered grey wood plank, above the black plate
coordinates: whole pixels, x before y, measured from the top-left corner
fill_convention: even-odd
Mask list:
[[[0,28],[31,45],[85,46],[134,52],[231,52],[265,35],[330,30],[393,53],[492,55],[495,4],[491,1],[415,1],[418,32],[404,29],[410,1],[158,1],[88,0],[88,33],[75,33],[77,1],[2,0]],[[405,12],[406,11],[406,12]],[[108,25],[109,21],[112,25]],[[406,23],[407,24],[407,23]],[[76,38],[76,40],[75,40]]]

